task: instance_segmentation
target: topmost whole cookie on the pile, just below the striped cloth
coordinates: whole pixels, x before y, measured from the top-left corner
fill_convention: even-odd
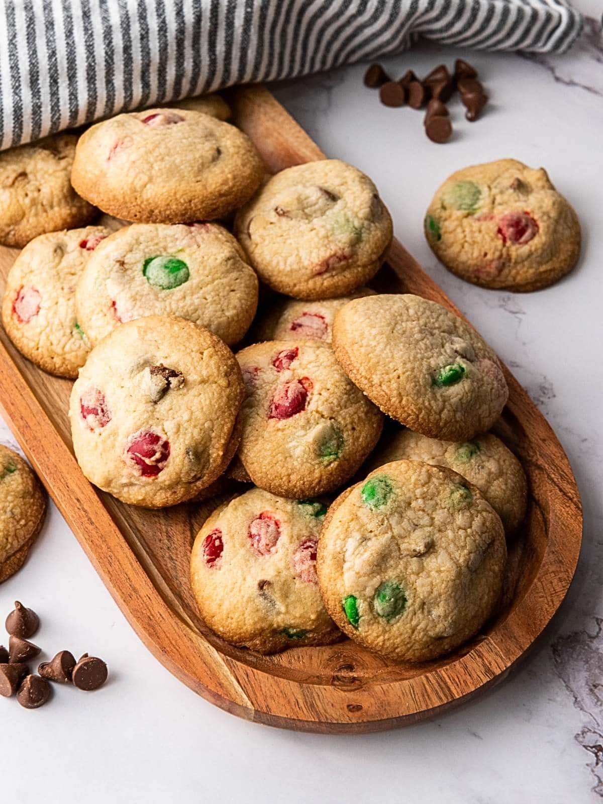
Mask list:
[[[178,224],[220,218],[264,177],[251,140],[187,109],[146,109],[92,125],[77,144],[72,184],[109,215]]]

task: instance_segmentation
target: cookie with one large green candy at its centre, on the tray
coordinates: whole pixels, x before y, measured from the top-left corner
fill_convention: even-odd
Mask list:
[[[243,337],[256,313],[257,277],[235,238],[217,224],[133,224],[89,260],[76,293],[92,345],[125,321],[178,315],[225,343]]]

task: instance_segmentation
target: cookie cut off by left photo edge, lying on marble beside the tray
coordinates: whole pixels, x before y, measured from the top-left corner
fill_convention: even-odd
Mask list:
[[[0,445],[0,583],[23,566],[45,514],[46,497],[35,474]]]

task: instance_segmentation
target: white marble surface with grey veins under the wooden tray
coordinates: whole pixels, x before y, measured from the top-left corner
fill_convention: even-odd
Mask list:
[[[600,13],[593,0],[577,5]],[[219,711],[164,670],[52,507],[27,567],[0,586],[0,611],[15,597],[34,606],[43,618],[36,642],[49,652],[100,655],[111,679],[94,695],[59,688],[52,705],[35,712],[2,703],[3,800],[58,802],[72,790],[88,804],[603,801],[601,26],[590,18],[563,57],[423,45],[386,66],[421,74],[458,55],[478,67],[491,102],[476,123],[455,103],[455,133],[445,146],[426,139],[420,113],[380,106],[363,88],[360,65],[275,92],[326,154],[375,179],[396,235],[512,367],[560,437],[585,507],[580,564],[560,613],[506,683],[447,716],[355,737],[279,731]],[[443,178],[507,156],[546,166],[583,225],[576,270],[539,293],[467,285],[423,240],[425,207]],[[0,441],[14,445],[1,423]]]

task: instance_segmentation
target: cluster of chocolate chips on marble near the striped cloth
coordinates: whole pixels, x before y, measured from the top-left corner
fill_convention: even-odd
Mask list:
[[[445,64],[439,64],[421,81],[412,70],[393,81],[380,64],[371,64],[364,76],[367,87],[379,89],[379,99],[386,106],[404,106],[422,109],[425,113],[425,133],[433,142],[447,142],[452,133],[445,104],[458,91],[466,108],[465,117],[477,120],[486,105],[488,96],[478,81],[478,71],[463,59],[454,63],[451,76]]]

